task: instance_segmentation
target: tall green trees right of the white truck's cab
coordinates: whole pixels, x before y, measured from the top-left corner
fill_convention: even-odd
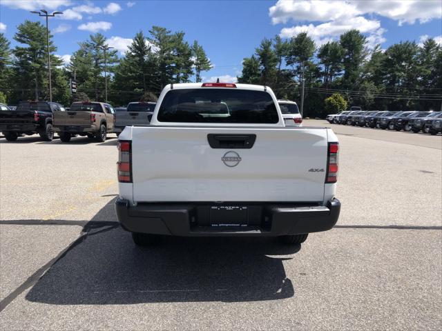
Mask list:
[[[358,30],[316,47],[301,32],[289,40],[262,39],[244,59],[238,77],[240,83],[270,86],[278,98],[295,101],[300,100],[303,79],[305,116],[325,116],[330,110],[325,99],[333,94],[365,110],[439,110],[442,49],[430,38],[421,46],[401,41],[387,50],[380,45],[370,50]]]

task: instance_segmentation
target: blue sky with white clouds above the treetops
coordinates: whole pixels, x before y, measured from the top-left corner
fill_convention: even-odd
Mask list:
[[[214,68],[204,78],[234,81],[244,57],[262,38],[289,38],[307,31],[317,45],[337,39],[350,28],[365,33],[369,47],[387,48],[403,40],[442,42],[441,0],[375,1],[83,1],[0,0],[0,30],[11,41],[25,19],[41,20],[30,10],[61,10],[50,19],[57,54],[68,60],[78,42],[101,32],[110,46],[124,53],[135,32],[147,34],[153,25],[186,32],[186,40],[204,47]]]

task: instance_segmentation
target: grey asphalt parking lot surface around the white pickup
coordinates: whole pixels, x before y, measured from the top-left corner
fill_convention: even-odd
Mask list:
[[[441,330],[442,136],[330,125],[333,230],[166,238],[116,223],[116,138],[0,139],[3,330]]]

